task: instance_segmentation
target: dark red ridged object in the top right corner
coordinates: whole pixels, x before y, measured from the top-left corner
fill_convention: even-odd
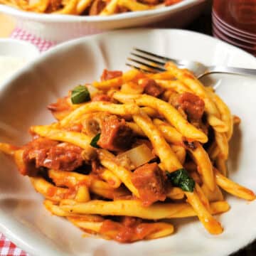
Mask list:
[[[256,56],[256,0],[214,0],[213,36]]]

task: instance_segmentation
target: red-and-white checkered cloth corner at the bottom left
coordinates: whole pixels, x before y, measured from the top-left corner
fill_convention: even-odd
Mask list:
[[[28,256],[26,252],[19,249],[7,239],[3,234],[0,233],[0,255],[1,256]]]

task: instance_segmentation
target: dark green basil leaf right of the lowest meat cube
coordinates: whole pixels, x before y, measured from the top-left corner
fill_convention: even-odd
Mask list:
[[[185,169],[178,169],[172,173],[166,171],[166,176],[174,186],[178,186],[183,191],[193,192],[195,181],[188,175]]]

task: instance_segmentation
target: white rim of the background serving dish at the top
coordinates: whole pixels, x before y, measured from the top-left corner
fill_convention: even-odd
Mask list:
[[[67,14],[38,14],[35,12],[22,11],[15,9],[11,6],[0,4],[0,11],[4,14],[15,16],[16,18],[26,18],[31,21],[39,21],[45,23],[68,23],[68,22],[81,22],[86,21],[88,23],[100,23],[104,21],[119,21],[123,19],[132,18],[146,18],[148,16],[158,16],[161,14],[175,13],[176,11],[182,11],[191,6],[195,6],[203,3],[206,0],[183,0],[177,4],[171,6],[165,6],[159,9],[152,9],[146,11],[131,11],[123,14],[113,14],[110,16],[75,16]]]

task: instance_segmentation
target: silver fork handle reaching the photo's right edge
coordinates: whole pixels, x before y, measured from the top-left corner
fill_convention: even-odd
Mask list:
[[[202,78],[204,75],[213,74],[213,73],[226,73],[233,75],[253,75],[256,76],[256,69],[251,68],[233,68],[233,67],[225,67],[225,66],[211,66],[206,70],[205,73],[200,75]]]

